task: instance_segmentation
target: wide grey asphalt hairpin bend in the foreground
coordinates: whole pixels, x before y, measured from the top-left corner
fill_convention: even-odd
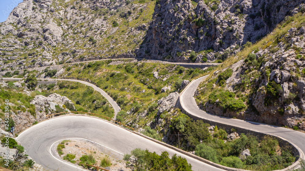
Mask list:
[[[120,154],[130,153],[135,148],[149,149],[149,151],[155,151],[158,154],[167,151],[170,155],[177,154],[185,157],[192,164],[194,171],[221,171],[219,168],[160,145],[109,121],[91,116],[63,115],[54,117],[26,129],[17,137],[17,140],[21,142],[27,154],[45,168],[59,169],[59,171],[79,171],[82,169],[77,168],[76,165],[56,159],[56,150],[50,150],[55,142],[74,138],[88,139]],[[54,145],[56,147],[57,144]]]

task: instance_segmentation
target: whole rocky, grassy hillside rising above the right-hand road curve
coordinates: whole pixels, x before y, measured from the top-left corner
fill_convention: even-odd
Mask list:
[[[231,65],[219,67],[199,87],[199,106],[216,115],[305,130],[304,23],[300,12],[232,56]]]

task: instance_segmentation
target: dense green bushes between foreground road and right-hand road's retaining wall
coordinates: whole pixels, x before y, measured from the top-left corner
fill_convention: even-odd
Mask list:
[[[269,171],[283,169],[295,161],[289,148],[280,148],[278,140],[272,136],[266,135],[258,140],[253,135],[241,134],[238,139],[224,143],[228,133],[217,126],[213,130],[213,137],[208,131],[200,132],[200,129],[207,130],[209,126],[209,124],[198,124],[188,116],[179,114],[171,120],[170,134],[180,133],[182,149],[195,150],[195,155],[228,167]],[[233,131],[236,130],[231,130]],[[203,134],[208,136],[202,137]],[[175,138],[175,143],[178,143],[178,136]],[[194,144],[196,146],[193,146]],[[251,156],[239,159],[241,152],[246,149],[249,149]]]

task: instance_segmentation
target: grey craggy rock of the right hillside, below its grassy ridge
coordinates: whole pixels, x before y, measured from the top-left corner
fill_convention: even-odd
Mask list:
[[[282,36],[294,49],[287,50],[286,44],[279,42],[275,46],[269,43],[265,49],[252,51],[256,60],[264,59],[260,67],[254,68],[244,60],[230,66],[233,73],[226,80],[224,91],[233,92],[235,99],[239,100],[247,96],[247,102],[243,102],[247,104],[246,108],[238,112],[224,111],[217,99],[213,104],[207,100],[204,106],[199,106],[214,115],[304,129],[300,124],[305,119],[304,33],[305,28],[293,27]],[[213,78],[217,78],[218,74],[214,72]],[[216,87],[213,84],[213,88]],[[198,94],[202,93],[200,88],[204,89],[199,87]],[[253,94],[248,94],[249,91]]]

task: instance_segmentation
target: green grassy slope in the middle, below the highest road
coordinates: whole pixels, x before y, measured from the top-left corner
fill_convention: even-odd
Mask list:
[[[169,93],[178,91],[182,80],[192,80],[206,71],[185,69],[171,64],[161,63],[125,63],[120,65],[108,65],[109,61],[98,61],[88,64],[76,64],[66,67],[66,72],[62,78],[73,78],[89,80],[106,91],[123,110],[123,123],[131,121],[132,125],[141,127],[156,118],[158,109],[156,103]],[[83,66],[84,65],[84,66]],[[159,72],[159,79],[153,76],[153,72]],[[167,76],[167,80],[163,78]],[[164,86],[170,86],[170,91],[161,92]],[[145,92],[142,92],[145,90]],[[149,109],[145,118],[137,116]],[[127,115],[126,111],[131,111]],[[119,115],[120,115],[119,114]]]

